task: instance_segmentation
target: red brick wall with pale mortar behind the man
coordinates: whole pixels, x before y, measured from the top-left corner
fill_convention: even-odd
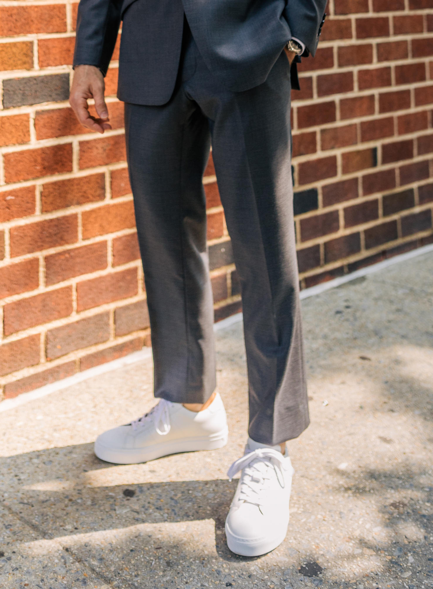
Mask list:
[[[433,241],[433,0],[331,0],[293,93],[301,287]],[[68,106],[77,3],[0,6],[0,395],[149,345],[127,180],[118,45],[113,130]],[[240,293],[212,162],[215,317]]]

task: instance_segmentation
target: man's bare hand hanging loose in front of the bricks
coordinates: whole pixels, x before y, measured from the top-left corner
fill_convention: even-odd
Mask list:
[[[104,133],[111,129],[108,123],[109,115],[104,100],[104,77],[94,65],[77,65],[74,71],[69,104],[75,112],[78,121],[92,131]],[[94,98],[95,108],[99,118],[92,117],[88,112],[87,100]]]

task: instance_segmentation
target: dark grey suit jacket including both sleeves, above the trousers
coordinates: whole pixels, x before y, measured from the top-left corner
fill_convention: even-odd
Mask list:
[[[181,55],[183,19],[222,87],[244,91],[265,81],[291,37],[314,55],[326,0],[81,0],[74,67],[105,75],[120,21],[117,96],[161,105],[170,100]]]

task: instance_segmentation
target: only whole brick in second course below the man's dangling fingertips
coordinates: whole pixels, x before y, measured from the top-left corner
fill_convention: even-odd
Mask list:
[[[41,201],[44,213],[65,209],[77,204],[94,203],[105,198],[104,174],[91,174],[47,182],[42,186]]]

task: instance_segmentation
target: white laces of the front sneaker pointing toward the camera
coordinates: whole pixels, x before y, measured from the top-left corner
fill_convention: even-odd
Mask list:
[[[269,469],[273,469],[281,487],[284,487],[283,475],[284,456],[273,448],[258,448],[246,452],[228,469],[229,480],[239,471],[241,475],[241,491],[239,501],[252,503],[260,508],[264,503],[263,491],[267,489],[267,481],[271,479]]]

